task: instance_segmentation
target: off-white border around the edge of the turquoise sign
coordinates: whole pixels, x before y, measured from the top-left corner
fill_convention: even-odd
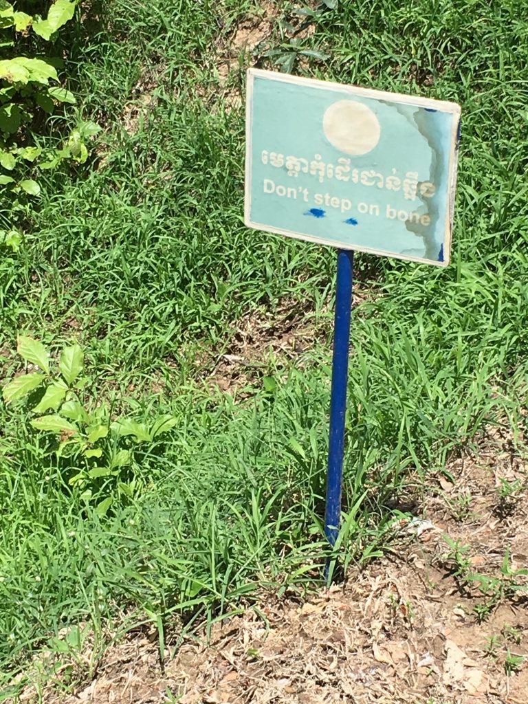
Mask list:
[[[406,103],[415,105],[420,108],[430,108],[432,110],[440,110],[448,112],[458,117],[458,120],[453,120],[451,130],[451,150],[449,154],[449,169],[448,169],[448,208],[449,217],[446,218],[446,232],[444,233],[444,261],[434,261],[422,257],[408,256],[407,254],[398,254],[383,249],[372,249],[370,247],[354,246],[351,247],[348,242],[339,242],[336,240],[325,239],[324,237],[315,237],[310,234],[301,234],[291,230],[282,230],[280,227],[272,227],[271,225],[263,225],[261,222],[253,222],[251,220],[251,174],[253,170],[251,149],[251,136],[253,134],[253,86],[255,78],[268,78],[270,80],[282,81],[284,83],[293,83],[296,85],[306,85],[312,88],[332,89],[340,91],[348,95],[358,95],[365,98],[373,98],[375,100],[386,100],[392,102]],[[460,115],[462,108],[458,103],[450,101],[436,100],[433,98],[422,98],[419,96],[410,96],[403,93],[390,93],[372,88],[361,88],[351,84],[335,83],[332,81],[322,81],[317,78],[305,78],[302,76],[294,76],[289,73],[278,73],[277,71],[266,71],[260,68],[249,68],[246,73],[246,181],[244,187],[244,224],[252,230],[261,230],[263,232],[273,232],[282,234],[285,237],[293,237],[294,239],[302,239],[317,244],[327,244],[337,249],[352,249],[353,251],[366,252],[376,254],[378,256],[389,256],[396,259],[407,261],[420,262],[422,264],[432,264],[434,266],[446,267],[451,260],[451,240],[453,237],[453,215],[455,211],[455,190],[458,168],[458,130],[460,128]]]

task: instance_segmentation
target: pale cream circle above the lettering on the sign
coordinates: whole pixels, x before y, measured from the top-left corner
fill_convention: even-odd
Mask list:
[[[332,146],[354,156],[374,149],[381,134],[372,110],[353,100],[332,103],[322,118],[322,129]]]

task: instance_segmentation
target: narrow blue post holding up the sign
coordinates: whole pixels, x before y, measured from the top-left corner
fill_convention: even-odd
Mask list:
[[[341,484],[345,443],[346,385],[348,345],[352,308],[354,253],[339,250],[337,256],[337,291],[332,358],[332,398],[330,400],[330,437],[328,448],[327,501],[325,534],[334,546],[341,519]]]

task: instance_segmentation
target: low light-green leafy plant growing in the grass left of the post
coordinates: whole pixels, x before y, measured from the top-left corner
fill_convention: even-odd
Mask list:
[[[32,337],[18,338],[18,354],[31,368],[4,385],[4,401],[23,404],[24,424],[49,436],[44,456],[56,459],[65,483],[80,489],[84,501],[95,503],[100,516],[114,501],[137,496],[143,488],[135,471],[142,448],[174,427],[175,417],[111,422],[108,404],[83,396],[84,354],[78,344],[63,348],[56,368],[42,342]]]

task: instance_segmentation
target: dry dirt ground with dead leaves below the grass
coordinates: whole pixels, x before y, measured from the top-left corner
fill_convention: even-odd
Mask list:
[[[189,639],[161,671],[155,637],[106,651],[57,704],[527,704],[527,463],[490,432],[432,479],[382,560],[302,601]],[[487,580],[487,581],[486,581]],[[21,700],[34,700],[28,687]]]

